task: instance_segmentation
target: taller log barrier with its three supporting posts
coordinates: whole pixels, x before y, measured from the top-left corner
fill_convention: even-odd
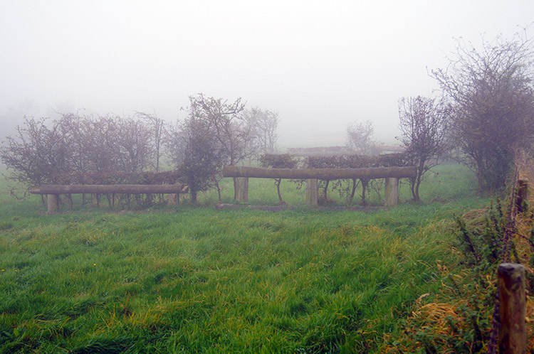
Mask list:
[[[376,167],[376,168],[260,168],[236,167],[223,168],[224,177],[234,177],[236,183],[236,200],[248,200],[248,178],[289,178],[306,180],[306,205],[318,205],[318,180],[334,180],[345,178],[375,179],[385,178],[386,188],[384,205],[397,205],[399,198],[399,178],[415,178],[417,168]]]

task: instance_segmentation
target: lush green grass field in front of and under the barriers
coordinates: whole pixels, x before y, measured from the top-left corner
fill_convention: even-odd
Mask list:
[[[210,192],[201,207],[46,215],[4,181],[0,353],[377,353],[440,291],[436,262],[461,267],[454,215],[488,203],[466,168],[436,172],[422,204],[404,183],[401,205],[367,211],[308,210],[283,182],[295,208],[277,213],[216,210]],[[273,181],[251,179],[249,204],[276,203]]]

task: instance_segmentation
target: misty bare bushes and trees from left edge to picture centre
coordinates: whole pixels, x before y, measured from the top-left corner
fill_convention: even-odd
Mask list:
[[[189,97],[187,116],[174,123],[155,113],[130,117],[62,114],[25,117],[7,136],[0,158],[9,178],[28,188],[53,183],[187,183],[197,193],[219,189],[222,166],[276,149],[278,114],[241,99]],[[173,173],[161,174],[169,161]],[[150,173],[149,173],[150,172]],[[160,173],[160,175],[158,175]]]

